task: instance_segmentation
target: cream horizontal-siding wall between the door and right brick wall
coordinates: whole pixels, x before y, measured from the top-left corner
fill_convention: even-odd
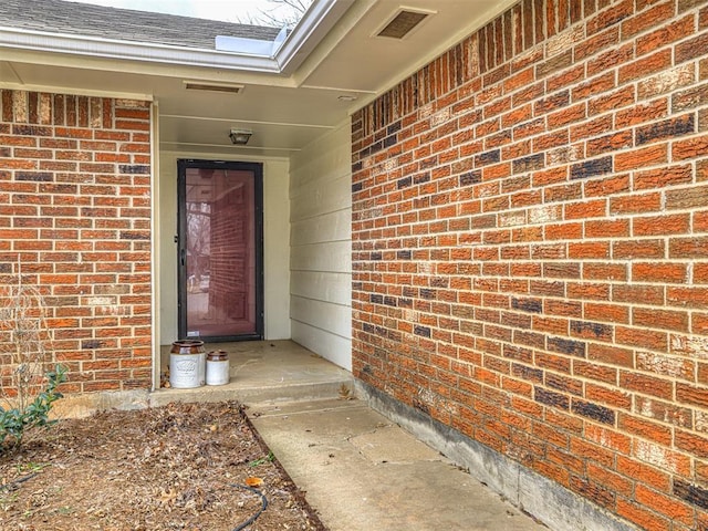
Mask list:
[[[293,341],[352,368],[352,174],[348,119],[290,165]]]

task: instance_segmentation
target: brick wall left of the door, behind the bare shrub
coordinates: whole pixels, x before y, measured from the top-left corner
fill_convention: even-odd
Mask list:
[[[0,92],[2,282],[41,288],[64,393],[149,388],[149,102]]]

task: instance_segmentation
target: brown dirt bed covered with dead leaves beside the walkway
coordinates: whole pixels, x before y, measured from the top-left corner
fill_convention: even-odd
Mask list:
[[[60,421],[0,456],[0,529],[326,531],[235,402]]]

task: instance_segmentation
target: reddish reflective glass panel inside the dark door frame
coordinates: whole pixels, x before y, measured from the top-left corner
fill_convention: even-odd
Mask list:
[[[250,170],[186,168],[186,335],[258,333]]]

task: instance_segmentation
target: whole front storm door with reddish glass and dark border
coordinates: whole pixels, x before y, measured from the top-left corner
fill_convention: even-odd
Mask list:
[[[179,160],[178,176],[180,339],[262,339],[262,165]]]

